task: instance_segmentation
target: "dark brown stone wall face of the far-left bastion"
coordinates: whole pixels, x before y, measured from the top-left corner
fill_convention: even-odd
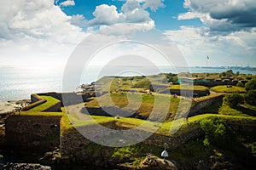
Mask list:
[[[54,150],[60,145],[61,116],[9,116],[6,120],[6,147]]]

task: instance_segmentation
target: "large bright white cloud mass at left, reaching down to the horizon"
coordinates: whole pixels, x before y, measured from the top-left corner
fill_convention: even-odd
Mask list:
[[[86,34],[53,0],[1,1],[0,62],[63,64]]]

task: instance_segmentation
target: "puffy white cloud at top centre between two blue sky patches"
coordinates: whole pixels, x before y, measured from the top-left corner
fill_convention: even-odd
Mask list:
[[[94,19],[88,21],[88,26],[111,26],[121,23],[134,23],[136,26],[152,26],[154,20],[146,8],[156,11],[163,7],[162,0],[127,0],[121,7],[120,12],[114,5],[102,4],[96,7]],[[149,25],[148,25],[149,24]]]

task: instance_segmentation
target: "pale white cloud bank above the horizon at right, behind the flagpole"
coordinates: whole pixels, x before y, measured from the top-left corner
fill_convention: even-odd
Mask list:
[[[209,65],[255,65],[256,29],[236,31],[229,35],[207,37],[207,27],[182,26],[177,31],[166,31],[190,65],[206,65],[206,56],[210,55]]]

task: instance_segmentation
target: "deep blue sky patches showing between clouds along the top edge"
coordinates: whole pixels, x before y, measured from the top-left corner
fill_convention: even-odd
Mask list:
[[[55,5],[61,5],[65,0],[55,1]],[[92,20],[94,18],[93,12],[96,6],[102,4],[114,5],[120,12],[121,7],[124,5],[125,0],[76,0],[75,5],[71,6],[61,6],[61,9],[67,15],[83,15],[86,20]],[[155,22],[155,28],[160,31],[179,29],[179,26],[202,26],[199,19],[193,20],[177,20],[178,14],[183,14],[189,11],[188,8],[183,8],[183,1],[181,0],[166,0],[163,1],[164,6],[158,8],[157,11],[151,11],[147,9],[150,13],[150,17]]]

